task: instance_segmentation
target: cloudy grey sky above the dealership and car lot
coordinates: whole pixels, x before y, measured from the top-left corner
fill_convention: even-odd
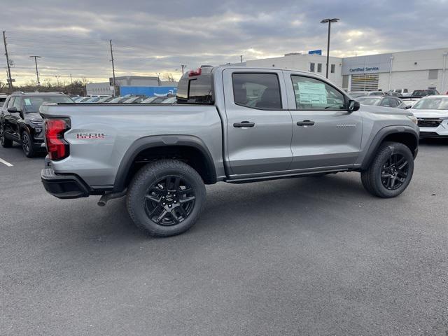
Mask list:
[[[111,76],[109,39],[116,76],[181,73],[200,64],[225,64],[326,48],[323,18],[332,26],[331,55],[353,56],[448,45],[448,1],[2,0],[18,84]],[[3,47],[1,47],[3,48]],[[1,52],[3,54],[3,51]],[[6,59],[0,66],[6,68]],[[0,73],[6,81],[6,70]]]

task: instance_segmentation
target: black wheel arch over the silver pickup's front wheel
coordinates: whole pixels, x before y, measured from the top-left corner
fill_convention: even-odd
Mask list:
[[[409,126],[388,126],[382,128],[377,132],[373,141],[370,143],[360,170],[365,170],[369,167],[379,146],[384,141],[394,141],[405,144],[415,158],[419,147],[419,132]]]

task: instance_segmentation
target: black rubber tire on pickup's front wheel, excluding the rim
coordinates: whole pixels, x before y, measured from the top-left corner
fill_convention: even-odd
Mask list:
[[[390,190],[381,180],[381,174],[384,174],[384,167],[389,158],[396,154],[401,155],[407,161],[407,177],[398,188]],[[379,146],[368,169],[361,172],[361,181],[365,190],[372,195],[382,198],[396,197],[409,186],[413,173],[414,156],[409,148],[399,142],[386,141]]]

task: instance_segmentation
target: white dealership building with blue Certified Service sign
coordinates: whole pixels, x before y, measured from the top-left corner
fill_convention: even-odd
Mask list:
[[[392,89],[448,91],[448,48],[330,57],[328,78],[349,92]],[[251,59],[246,66],[273,66],[325,76],[326,56],[292,52],[283,57]]]

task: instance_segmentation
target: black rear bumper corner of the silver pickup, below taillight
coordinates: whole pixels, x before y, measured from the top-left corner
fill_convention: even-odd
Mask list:
[[[57,198],[88,197],[90,188],[76,175],[55,174],[51,167],[41,170],[43,187],[50,195]]]

